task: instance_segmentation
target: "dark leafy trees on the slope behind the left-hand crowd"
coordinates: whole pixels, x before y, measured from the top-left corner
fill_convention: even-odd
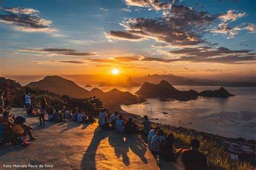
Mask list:
[[[51,107],[57,109],[60,109],[65,105],[71,109],[78,107],[83,111],[96,114],[103,106],[102,101],[95,96],[89,98],[75,98],[68,95],[60,96],[46,90],[21,86],[20,83],[11,79],[5,79],[4,77],[0,77],[0,84],[0,91],[4,91],[4,97],[8,93],[10,105],[14,108],[23,108],[22,99],[25,98],[24,95],[26,91],[33,94],[32,105],[39,105],[39,101],[44,97]]]

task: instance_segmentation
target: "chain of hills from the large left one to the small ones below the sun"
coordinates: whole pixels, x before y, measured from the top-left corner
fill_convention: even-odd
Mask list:
[[[88,91],[78,86],[75,82],[56,75],[46,76],[43,80],[31,82],[26,86],[35,89],[48,90],[58,95],[69,95],[76,98],[96,96],[97,98],[104,100],[105,102],[131,103],[144,101],[142,98],[133,95],[128,91],[124,92],[118,89],[112,89],[110,91],[104,92],[98,88],[93,88],[91,91]]]

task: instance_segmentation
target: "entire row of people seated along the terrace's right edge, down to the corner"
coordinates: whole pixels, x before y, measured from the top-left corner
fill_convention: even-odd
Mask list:
[[[176,162],[181,155],[181,161],[183,162],[185,169],[205,169],[207,167],[206,155],[199,152],[199,140],[191,139],[190,149],[183,150],[182,148],[174,150],[174,136],[172,133],[168,133],[164,137],[164,131],[160,127],[152,129],[151,122],[147,116],[144,116],[140,124],[143,129],[139,130],[136,123],[129,118],[128,121],[123,121],[123,116],[118,112],[114,112],[110,116],[108,121],[107,113],[109,110],[103,108],[99,113],[98,124],[103,130],[116,130],[117,132],[125,133],[142,133],[145,136],[147,145],[150,151],[156,157],[159,164],[160,158],[166,161]]]

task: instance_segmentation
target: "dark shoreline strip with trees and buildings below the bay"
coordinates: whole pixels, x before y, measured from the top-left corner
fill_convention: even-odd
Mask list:
[[[127,104],[127,103],[125,103]],[[129,103],[130,104],[130,103]],[[123,115],[125,121],[132,117],[133,121],[136,124],[139,124],[140,120],[142,120],[142,116],[131,114],[122,109],[121,104],[118,104],[117,108],[111,108],[112,111],[118,111]],[[214,144],[216,148],[224,148],[224,151],[230,154],[230,158],[232,160],[239,160],[239,158],[243,158],[247,162],[251,162],[251,164],[255,164],[256,160],[256,140],[253,139],[244,139],[244,138],[228,138],[224,136],[219,136],[218,134],[208,133],[197,131],[194,129],[184,128],[182,126],[173,126],[167,124],[160,124],[152,122],[152,126],[160,126],[161,129],[166,131],[171,131],[174,133],[178,133],[181,135],[186,135],[190,138],[197,138],[199,140],[205,140]],[[178,144],[179,145],[179,144]],[[188,147],[188,146],[186,146]],[[253,149],[254,148],[254,149]]]

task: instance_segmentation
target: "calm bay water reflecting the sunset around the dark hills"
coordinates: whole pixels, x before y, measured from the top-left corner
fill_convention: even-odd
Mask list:
[[[217,86],[174,86],[179,90],[218,89]],[[117,87],[118,88],[118,87]],[[158,123],[183,126],[198,131],[219,134],[225,137],[242,137],[256,140],[256,88],[225,87],[233,97],[200,97],[198,100],[159,101],[148,98],[142,104],[122,105],[122,109],[140,116],[159,118]],[[107,91],[112,87],[104,87]],[[118,88],[120,89],[120,88]],[[139,87],[120,90],[136,92]],[[167,115],[160,112],[167,112]]]

